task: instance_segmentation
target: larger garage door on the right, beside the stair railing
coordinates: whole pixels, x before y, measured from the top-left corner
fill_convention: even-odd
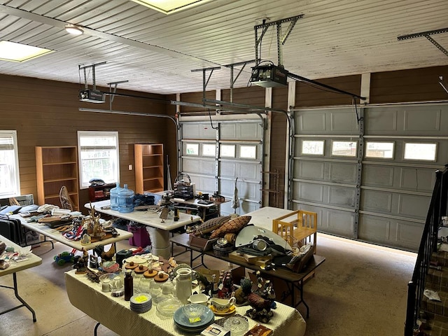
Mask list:
[[[448,162],[448,106],[296,110],[294,120],[293,208],[317,212],[321,232],[415,251]]]

